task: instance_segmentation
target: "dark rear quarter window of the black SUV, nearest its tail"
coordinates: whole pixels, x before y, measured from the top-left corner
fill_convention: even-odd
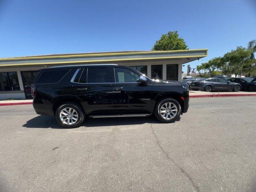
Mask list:
[[[44,71],[37,83],[57,83],[59,82],[70,70],[50,70]]]

